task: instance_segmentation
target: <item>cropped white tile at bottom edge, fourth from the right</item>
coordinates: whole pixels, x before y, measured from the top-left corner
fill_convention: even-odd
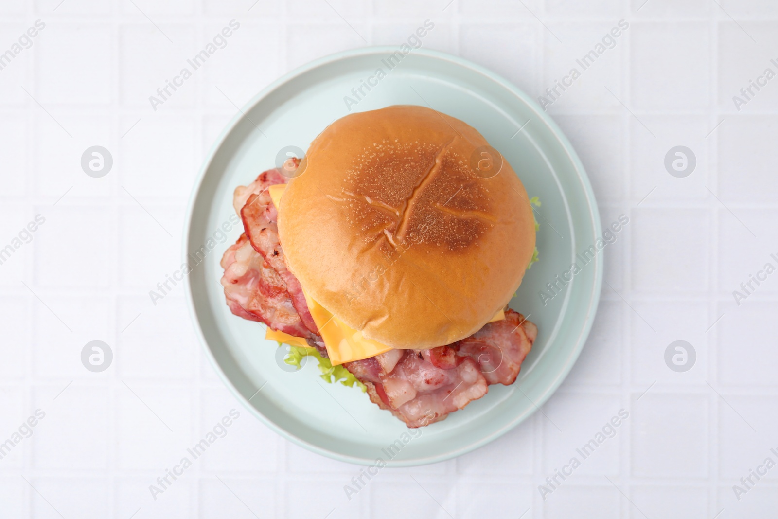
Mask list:
[[[457,484],[457,515],[459,517],[520,517],[532,507],[533,493],[529,485],[508,482],[466,482]],[[506,499],[510,496],[510,499]],[[524,517],[532,517],[527,512]]]

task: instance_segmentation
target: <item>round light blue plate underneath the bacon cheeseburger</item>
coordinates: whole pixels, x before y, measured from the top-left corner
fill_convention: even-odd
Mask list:
[[[378,409],[358,389],[324,383],[314,361],[297,372],[282,369],[286,364],[279,361],[278,345],[265,341],[264,325],[230,313],[219,285],[223,273],[219,260],[242,226],[233,226],[229,240],[217,243],[188,276],[187,300],[195,328],[237,398],[296,444],[363,465],[377,458],[394,466],[447,460],[517,426],[548,400],[575,363],[591,328],[602,282],[599,253],[545,306],[538,294],[601,233],[584,167],[557,125],[525,93],[485,68],[448,54],[415,50],[389,70],[382,59],[396,50],[370,47],[322,58],[254,97],[205,160],[184,235],[184,255],[209,244],[233,214],[233,189],[274,167],[284,147],[307,149],[331,121],[349,113],[344,97],[356,100],[352,88],[377,68],[383,68],[386,77],[370,91],[363,87],[366,95],[360,95],[352,111],[419,104],[457,117],[503,153],[530,196],[540,198],[542,206],[536,212],[541,224],[540,261],[527,272],[510,304],[529,314],[540,332],[516,384],[490,386],[485,397],[443,422],[412,431],[413,437],[400,420]],[[388,451],[397,440],[401,448]]]

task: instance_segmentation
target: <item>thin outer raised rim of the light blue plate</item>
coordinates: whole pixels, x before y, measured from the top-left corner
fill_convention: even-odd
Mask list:
[[[208,153],[205,155],[205,158],[202,161],[202,165],[200,169],[198,170],[197,177],[195,178],[195,183],[192,186],[189,195],[189,200],[187,202],[187,209],[186,212],[184,213],[184,233],[182,235],[182,240],[181,240],[182,242],[181,253],[184,260],[187,258],[188,245],[190,244],[189,235],[191,233],[191,224],[193,219],[193,213],[195,210],[195,202],[201,191],[202,183],[205,180],[205,174],[211,167],[211,164],[213,162],[214,157],[216,156],[216,153],[218,153],[219,149],[221,149],[221,147],[224,145],[227,136],[230,135],[231,132],[233,132],[233,129],[237,126],[237,124],[239,124],[240,120],[244,117],[245,113],[251,110],[257,103],[259,103],[265,97],[273,93],[276,89],[279,89],[279,87],[283,86],[289,81],[292,81],[296,77],[303,75],[304,73],[310,70],[313,70],[314,68],[319,68],[324,65],[334,63],[336,61],[342,61],[345,59],[354,58],[361,55],[379,54],[383,52],[394,52],[397,50],[398,47],[396,46],[377,45],[377,46],[358,47],[355,49],[349,49],[347,51],[340,51],[334,54],[328,54],[322,58],[317,58],[314,59],[313,61],[308,61],[307,63],[300,65],[296,68],[293,68],[293,70],[289,72],[286,72],[286,74],[283,74],[278,79],[275,79],[274,81],[270,82],[267,86],[265,86],[265,88],[261,89],[257,94],[251,97],[250,100],[244,103],[243,107],[241,107],[238,110],[237,114],[233,115],[230,121],[223,128],[222,132],[220,132],[219,136],[214,140],[212,146],[210,147]],[[442,51],[434,51],[422,47],[418,49],[413,49],[411,54],[420,54],[429,58],[436,58],[442,61],[449,61],[454,65],[458,65],[462,68],[467,68],[472,72],[475,72],[479,75],[483,75],[487,79],[491,80],[492,82],[496,82],[499,86],[502,86],[504,89],[508,90],[510,93],[513,94],[513,96],[516,96],[519,100],[524,102],[527,105],[527,107],[531,108],[531,110],[534,111],[534,114],[536,114],[537,117],[539,117],[545,124],[548,124],[548,127],[551,128],[552,130],[553,136],[555,137],[555,139],[559,140],[560,144],[562,145],[562,148],[564,149],[567,156],[569,157],[569,160],[571,161],[571,163],[573,163],[573,167],[575,167],[576,172],[578,173],[579,181],[584,187],[587,207],[589,208],[589,212],[591,216],[591,224],[595,230],[595,233],[597,232],[597,230],[601,229],[601,219],[600,219],[600,214],[598,209],[597,198],[594,196],[594,190],[591,187],[591,181],[589,180],[589,177],[586,173],[584,164],[581,163],[580,157],[578,156],[575,149],[573,148],[573,145],[567,139],[564,132],[562,132],[562,129],[559,128],[559,126],[555,123],[552,117],[548,115],[547,112],[540,109],[538,104],[535,103],[535,101],[531,98],[531,96],[529,96],[527,93],[524,93],[523,90],[519,89],[512,82],[503,78],[502,75],[499,75],[496,72],[490,70],[489,68],[485,68],[482,65],[478,65],[466,58],[461,58],[459,56],[455,56],[454,54],[448,54]],[[573,246],[574,244],[575,244],[575,240],[573,240]],[[598,306],[601,299],[601,290],[602,290],[602,282],[603,282],[603,263],[605,258],[605,251],[602,252],[603,254],[598,254],[597,256],[595,256],[596,264],[594,265],[595,272],[594,272],[594,279],[592,280],[593,286],[591,287],[591,297],[587,302],[584,326],[580,328],[578,337],[576,338],[575,348],[568,356],[568,359],[566,360],[566,363],[562,366],[562,369],[559,370],[559,373],[557,373],[555,379],[550,381],[550,384],[548,384],[545,387],[545,390],[538,398],[536,398],[534,401],[531,401],[536,409],[538,409],[541,405],[544,405],[545,402],[547,402],[548,399],[555,394],[555,392],[559,389],[559,386],[568,376],[570,370],[573,369],[576,360],[580,356],[580,352],[584,349],[584,344],[586,343],[587,337],[589,336],[589,333],[591,331],[591,327],[594,324],[594,316],[597,314]],[[202,325],[200,324],[200,321],[197,316],[197,310],[195,309],[195,300],[191,289],[191,276],[189,275],[184,276],[184,292],[185,292],[185,299],[187,303],[187,310],[188,310],[189,317],[191,318],[192,324],[194,324],[195,333],[198,336],[202,348],[205,349],[205,355],[208,357],[212,368],[216,371],[217,375],[222,380],[223,384],[230,390],[230,392],[235,396],[235,398],[237,398],[237,400],[242,405],[244,405],[244,407],[249,412],[251,412],[252,415],[254,415],[257,419],[259,419],[261,423],[263,423],[265,426],[268,426],[268,428],[271,429],[273,432],[279,434],[279,436],[284,437],[287,440],[293,442],[294,444],[306,448],[309,451],[315,452],[317,454],[321,454],[322,456],[326,456],[327,458],[332,458],[346,463],[352,463],[354,465],[367,466],[375,463],[374,460],[369,458],[359,458],[357,456],[352,456],[350,454],[343,454],[338,451],[331,451],[324,447],[320,447],[317,444],[312,444],[307,440],[303,440],[302,438],[297,437],[294,433],[290,432],[289,430],[283,429],[281,426],[277,425],[271,419],[268,419],[268,417],[266,417],[253,405],[251,405],[251,402],[248,402],[247,399],[244,397],[244,395],[242,395],[240,391],[237,390],[237,387],[235,387],[232,380],[230,380],[230,377],[228,377],[227,374],[224,372],[222,366],[216,360],[216,357],[214,356],[211,350],[211,346],[209,345],[208,341],[205,338],[205,333],[202,330]],[[524,422],[525,419],[529,418],[534,414],[535,414],[534,411],[531,411],[524,415],[516,416],[509,423],[506,423],[506,425],[504,425],[503,427],[492,431],[492,433],[489,433],[487,436],[482,437],[480,440],[471,441],[462,447],[455,448],[443,454],[436,454],[425,458],[414,458],[410,460],[391,459],[385,461],[385,465],[387,467],[415,467],[419,465],[429,465],[433,463],[438,463],[440,461],[447,461],[452,458],[457,458],[463,454],[468,454],[471,451],[475,451],[476,449],[491,443],[492,441],[498,439],[499,437],[502,437],[504,434],[508,433],[510,430],[513,430],[514,427],[518,426],[520,423]]]

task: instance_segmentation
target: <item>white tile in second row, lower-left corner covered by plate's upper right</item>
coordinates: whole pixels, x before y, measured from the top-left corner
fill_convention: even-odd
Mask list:
[[[538,92],[538,34],[534,26],[463,24],[459,38],[464,58],[503,75],[525,92]]]

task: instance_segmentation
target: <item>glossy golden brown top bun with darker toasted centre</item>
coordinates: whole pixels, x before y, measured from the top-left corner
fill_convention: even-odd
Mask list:
[[[310,145],[279,207],[290,270],[367,338],[401,349],[450,344],[506,306],[535,244],[527,192],[464,122],[393,106],[338,119]]]

